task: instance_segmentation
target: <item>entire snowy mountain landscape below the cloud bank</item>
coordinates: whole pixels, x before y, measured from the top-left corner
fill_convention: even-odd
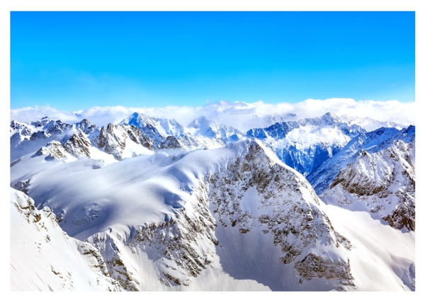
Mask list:
[[[414,291],[414,125],[288,117],[11,121],[11,289]]]

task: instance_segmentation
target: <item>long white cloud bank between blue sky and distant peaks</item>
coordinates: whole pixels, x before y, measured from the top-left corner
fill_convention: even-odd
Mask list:
[[[220,101],[203,106],[166,106],[147,108],[123,106],[94,107],[78,112],[66,112],[56,108],[35,107],[11,109],[11,120],[31,122],[48,116],[63,122],[79,122],[86,118],[98,126],[109,122],[116,124],[132,113],[144,113],[156,118],[176,119],[182,125],[188,125],[193,119],[205,115],[210,120],[224,123],[241,131],[252,127],[265,127],[273,121],[300,120],[315,118],[325,113],[369,117],[380,121],[391,121],[401,125],[415,124],[416,103],[399,101],[354,101],[350,98],[331,98],[326,100],[307,99],[299,103],[269,104],[263,101],[255,103]]]

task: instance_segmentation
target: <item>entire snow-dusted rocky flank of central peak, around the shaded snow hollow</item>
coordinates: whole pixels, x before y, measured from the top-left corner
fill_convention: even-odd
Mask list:
[[[341,289],[353,286],[348,258],[316,259],[310,252],[309,258],[301,259],[322,245],[341,256],[352,246],[320,210],[317,195],[305,178],[278,164],[271,151],[264,149],[251,142],[246,154],[225,170],[200,178],[175,217],[133,227],[127,237],[104,233],[90,237],[88,241],[101,251],[112,277],[127,290],[142,290],[123,255],[123,250],[131,248],[162,256],[157,261],[158,279],[164,285],[190,285],[215,258],[215,247],[220,245],[215,236],[217,217],[223,227],[237,228],[242,235],[261,228],[261,236],[271,237],[273,245],[280,247],[280,261],[285,265],[297,261],[295,269],[306,280],[315,276],[334,281]],[[249,202],[251,195],[258,195],[258,200]],[[312,263],[314,267],[311,258],[319,265]]]

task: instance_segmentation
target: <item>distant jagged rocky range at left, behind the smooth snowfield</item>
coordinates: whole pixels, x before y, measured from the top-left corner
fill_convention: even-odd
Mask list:
[[[150,124],[152,123],[152,124]],[[176,120],[154,119],[133,114],[118,125],[96,127],[88,120],[69,125],[60,120],[31,123],[11,122],[11,162],[38,151],[58,159],[91,158],[121,161],[159,149],[222,147],[222,139],[195,137]]]

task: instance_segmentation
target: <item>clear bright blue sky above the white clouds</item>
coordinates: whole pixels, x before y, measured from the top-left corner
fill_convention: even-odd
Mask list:
[[[414,12],[11,12],[11,108],[415,100]]]

